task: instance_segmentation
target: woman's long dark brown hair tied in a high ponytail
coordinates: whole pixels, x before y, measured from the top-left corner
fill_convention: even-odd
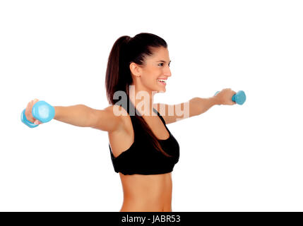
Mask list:
[[[167,43],[161,37],[150,33],[140,33],[134,37],[121,36],[114,42],[107,62],[105,77],[105,88],[107,100],[110,105],[114,105],[118,100],[114,99],[114,93],[124,91],[129,96],[129,85],[133,82],[129,64],[131,62],[143,65],[145,57],[153,54],[152,47],[165,47]],[[136,119],[141,124],[143,131],[150,139],[156,150],[159,150],[167,157],[172,157],[162,149],[158,138],[156,138],[150,126],[146,124],[143,117],[135,113]]]

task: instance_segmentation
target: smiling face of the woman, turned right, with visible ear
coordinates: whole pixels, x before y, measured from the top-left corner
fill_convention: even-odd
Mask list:
[[[167,84],[167,78],[172,76],[170,72],[170,56],[168,49],[164,47],[153,48],[153,55],[145,57],[145,64],[130,65],[136,90],[156,91],[164,93]]]

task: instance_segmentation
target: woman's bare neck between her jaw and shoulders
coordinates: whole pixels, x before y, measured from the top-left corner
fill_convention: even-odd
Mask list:
[[[155,115],[153,112],[153,97],[155,91],[135,89],[135,85],[131,85],[129,89],[129,100],[142,116]]]

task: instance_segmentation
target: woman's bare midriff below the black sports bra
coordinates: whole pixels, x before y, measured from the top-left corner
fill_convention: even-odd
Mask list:
[[[121,212],[172,211],[172,173],[119,175],[124,192]]]

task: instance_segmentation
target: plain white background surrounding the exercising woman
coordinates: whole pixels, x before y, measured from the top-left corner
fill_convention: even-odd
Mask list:
[[[105,70],[122,35],[167,41],[172,77],[155,102],[244,90],[167,127],[180,145],[173,211],[302,211],[302,1],[1,1],[0,210],[119,211],[105,131],[50,121],[30,100],[108,106]]]

